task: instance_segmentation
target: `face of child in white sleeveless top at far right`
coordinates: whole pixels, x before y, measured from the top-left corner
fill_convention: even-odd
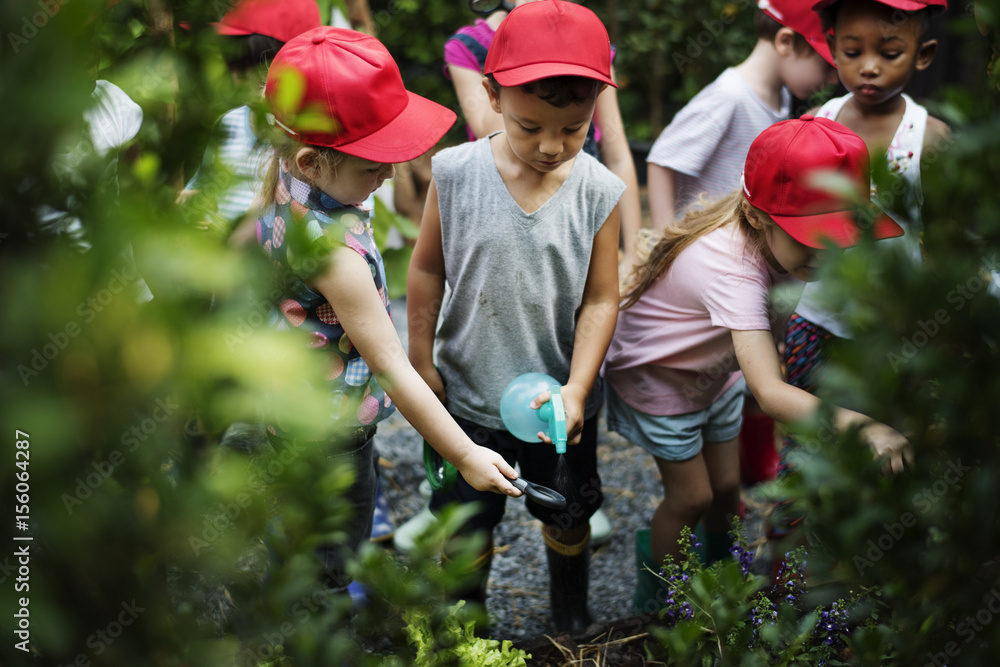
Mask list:
[[[869,107],[895,98],[930,64],[936,42],[922,39],[917,18],[873,0],[844,0],[829,38],[841,82]]]

